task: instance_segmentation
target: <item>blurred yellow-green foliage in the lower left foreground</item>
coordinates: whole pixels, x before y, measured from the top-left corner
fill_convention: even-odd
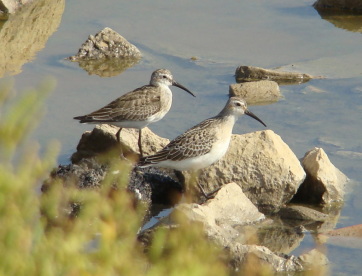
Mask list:
[[[145,250],[137,241],[145,208],[125,189],[127,173],[109,175],[99,189],[54,180],[39,191],[59,145],[39,157],[26,138],[53,87],[48,80],[15,95],[11,82],[0,84],[0,275],[229,274],[221,249],[197,224],[159,229]],[[129,170],[120,160],[113,166]],[[77,217],[69,215],[71,203],[80,204]]]

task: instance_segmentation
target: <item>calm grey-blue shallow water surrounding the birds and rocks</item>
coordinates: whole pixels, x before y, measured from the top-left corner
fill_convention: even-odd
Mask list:
[[[31,138],[38,141],[42,149],[50,140],[60,141],[59,163],[69,162],[81,134],[92,129],[72,117],[93,111],[148,83],[154,69],[170,69],[178,82],[197,95],[192,98],[172,88],[171,111],[162,121],[151,125],[157,134],[173,138],[215,115],[224,106],[228,86],[235,82],[233,74],[237,66],[282,67],[326,78],[281,86],[282,100],[251,106],[250,110],[279,134],[299,158],[316,146],[326,151],[332,163],[351,179],[337,227],[361,223],[362,28],[359,18],[340,24],[343,19],[325,17],[330,22],[314,10],[314,1],[303,0],[227,0],[208,1],[207,5],[190,0],[110,0],[107,4],[93,0],[47,2],[59,7],[53,16],[58,18],[52,20],[54,30],[39,32],[45,35],[40,42],[41,36],[35,36],[38,39],[34,41],[40,45],[28,56],[24,54],[12,70],[11,78],[15,79],[19,91],[36,86],[46,76],[56,78],[57,87],[47,100],[46,114]],[[6,24],[0,35],[5,28],[10,29]],[[45,29],[50,29],[49,26],[43,24]],[[64,60],[76,54],[89,34],[104,27],[111,27],[135,44],[143,59],[122,74],[105,78],[89,75],[77,63]],[[18,55],[26,52],[21,43],[16,46],[20,49]],[[5,40],[0,40],[2,52],[5,47],[8,47]],[[6,59],[0,60],[1,64]],[[241,118],[234,133],[261,129],[254,120]],[[304,239],[301,249],[295,253],[301,253],[303,246],[313,247],[313,243]],[[332,274],[361,271],[362,264],[349,254],[361,255],[361,250],[328,246]]]

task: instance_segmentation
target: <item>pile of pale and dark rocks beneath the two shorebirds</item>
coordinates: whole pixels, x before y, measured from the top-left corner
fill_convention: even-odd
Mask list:
[[[117,127],[101,125],[84,133],[78,151],[72,156],[73,164],[68,166],[84,168],[84,164],[89,163],[87,160],[101,160],[99,156],[109,152],[111,156],[123,155],[135,164],[138,131],[122,130],[119,145],[115,137],[117,130]],[[143,137],[145,154],[168,143],[148,128],[143,130]],[[100,169],[107,173],[107,166],[89,168],[96,172],[82,169],[78,176],[83,183],[81,186],[90,179],[82,174],[103,176]],[[60,171],[64,178],[64,169]],[[152,243],[149,237],[154,229],[172,228],[170,225],[175,226],[173,217],[182,213],[188,220],[202,223],[205,235],[225,248],[235,269],[245,263],[249,254],[275,271],[301,271],[328,263],[318,249],[301,256],[287,255],[298,247],[305,231],[321,233],[333,229],[337,223],[341,206],[338,203],[343,202],[347,177],[330,162],[323,149],[314,148],[299,161],[272,130],[233,135],[224,158],[201,170],[197,176],[204,190],[220,188],[215,197],[205,199],[197,185],[187,187],[185,183],[192,177],[188,172],[168,169],[135,166],[131,170],[128,189],[139,200],[150,204],[150,210],[154,204],[179,202],[184,192],[192,192],[194,198],[194,203],[176,205],[160,223],[139,233],[146,246]],[[326,208],[321,211],[320,206]]]

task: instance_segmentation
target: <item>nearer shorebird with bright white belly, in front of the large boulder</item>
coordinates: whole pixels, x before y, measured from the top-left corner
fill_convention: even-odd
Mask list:
[[[231,97],[218,115],[190,128],[159,152],[141,158],[138,165],[178,171],[206,168],[225,155],[234,124],[243,114],[256,119],[266,127],[262,120],[247,109],[247,104],[242,98]]]

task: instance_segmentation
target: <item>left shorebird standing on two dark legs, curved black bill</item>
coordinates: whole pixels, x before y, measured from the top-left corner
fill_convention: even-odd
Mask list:
[[[122,128],[139,129],[138,147],[143,156],[142,128],[161,120],[170,110],[172,92],[169,86],[171,85],[177,86],[195,97],[190,90],[173,79],[169,70],[158,69],[152,73],[150,84],[126,93],[90,114],[77,116],[74,119],[80,120],[80,123],[118,126],[120,128],[116,133],[118,142]]]

